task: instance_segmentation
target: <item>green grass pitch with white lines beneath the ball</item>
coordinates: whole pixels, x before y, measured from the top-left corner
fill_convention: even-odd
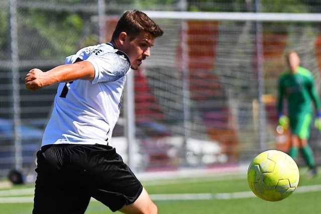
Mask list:
[[[299,187],[288,198],[264,201],[250,192],[244,174],[220,174],[200,177],[142,181],[161,214],[177,213],[277,213],[316,214],[321,212],[321,174],[308,179],[300,168]],[[0,189],[0,210],[4,214],[30,214],[33,185]],[[7,201],[7,202],[6,202]],[[16,201],[16,202],[15,202]],[[112,213],[92,200],[86,214]]]

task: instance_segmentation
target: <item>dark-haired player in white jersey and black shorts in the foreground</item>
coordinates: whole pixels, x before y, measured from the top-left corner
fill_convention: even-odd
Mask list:
[[[59,83],[37,152],[33,214],[84,213],[91,197],[123,213],[157,213],[133,172],[108,145],[129,68],[138,69],[163,30],[133,10],[111,41],[89,46],[47,72],[32,69],[27,89]]]

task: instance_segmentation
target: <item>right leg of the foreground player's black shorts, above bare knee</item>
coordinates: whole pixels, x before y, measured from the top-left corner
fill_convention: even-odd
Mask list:
[[[93,145],[87,153],[90,158],[86,161],[85,176],[90,195],[112,211],[134,203],[143,187],[116,150],[110,146]]]

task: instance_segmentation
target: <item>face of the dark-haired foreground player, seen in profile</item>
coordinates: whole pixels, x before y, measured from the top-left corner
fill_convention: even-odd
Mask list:
[[[143,33],[133,39],[124,42],[124,52],[130,59],[130,67],[137,70],[142,61],[150,56],[150,48],[154,45],[154,39],[148,33]]]

